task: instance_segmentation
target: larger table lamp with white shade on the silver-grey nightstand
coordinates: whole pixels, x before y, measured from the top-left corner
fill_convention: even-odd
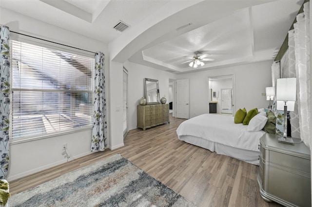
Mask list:
[[[287,137],[287,111],[294,110],[297,86],[296,78],[280,78],[276,84],[277,110],[284,110],[284,134],[278,138],[278,142],[294,145],[292,138]]]

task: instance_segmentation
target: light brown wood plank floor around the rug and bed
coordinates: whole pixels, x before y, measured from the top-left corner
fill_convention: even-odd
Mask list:
[[[183,119],[142,131],[131,130],[125,147],[106,150],[10,182],[11,194],[33,188],[64,173],[120,154],[139,168],[202,207],[280,207],[266,203],[256,181],[258,166],[217,155],[176,136]]]

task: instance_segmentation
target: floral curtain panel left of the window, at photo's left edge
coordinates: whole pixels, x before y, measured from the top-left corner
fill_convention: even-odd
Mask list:
[[[9,168],[10,115],[10,31],[0,26],[0,179],[5,179]]]

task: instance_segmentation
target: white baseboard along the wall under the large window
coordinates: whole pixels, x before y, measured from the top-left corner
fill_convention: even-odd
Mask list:
[[[86,152],[86,153],[82,153],[82,154],[79,154],[79,155],[75,155],[75,156],[72,156],[71,157],[72,159],[69,159],[68,161],[71,161],[71,160],[74,160],[74,159],[78,159],[80,157],[83,157],[83,156],[86,156],[86,155],[90,155],[92,153],[94,153],[94,152]],[[6,180],[8,182],[11,182],[11,181],[20,179],[22,177],[26,177],[28,175],[34,174],[34,173],[39,173],[40,171],[44,171],[44,170],[47,170],[49,168],[56,167],[58,165],[66,163],[66,161],[67,161],[66,159],[62,159],[62,160],[59,160],[57,162],[54,162],[54,163],[51,163],[51,164],[48,164],[48,165],[44,165],[44,166],[41,166],[39,168],[30,170],[30,171],[27,171],[27,172],[23,172],[23,173],[20,173],[20,174],[16,174],[16,175],[12,175],[12,176],[10,176],[10,174],[8,174],[9,176],[6,178]]]

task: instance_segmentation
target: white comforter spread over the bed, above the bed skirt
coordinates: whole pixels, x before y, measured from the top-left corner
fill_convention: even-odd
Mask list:
[[[242,123],[235,124],[234,117],[202,114],[182,122],[176,134],[179,139],[189,135],[239,149],[259,151],[259,138],[265,132],[248,132],[247,127]]]

